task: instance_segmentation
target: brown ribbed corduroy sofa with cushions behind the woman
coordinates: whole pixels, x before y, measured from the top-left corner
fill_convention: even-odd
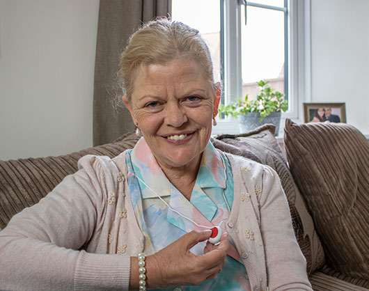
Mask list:
[[[274,125],[262,125],[212,143],[278,173],[313,290],[369,290],[368,140],[351,125],[287,119],[281,149],[274,132]],[[114,157],[139,138],[128,133],[70,155],[0,161],[0,229],[77,171],[79,158]]]

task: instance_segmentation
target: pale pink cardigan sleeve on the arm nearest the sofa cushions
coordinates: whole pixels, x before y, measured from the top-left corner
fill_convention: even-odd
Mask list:
[[[260,196],[260,232],[270,290],[312,290],[306,260],[295,238],[292,219],[277,173],[265,166]]]

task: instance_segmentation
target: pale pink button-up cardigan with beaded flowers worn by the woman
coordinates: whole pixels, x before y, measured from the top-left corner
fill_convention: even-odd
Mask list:
[[[278,175],[227,155],[235,194],[227,223],[253,290],[312,290]],[[0,290],[128,290],[143,250],[125,152],[86,156],[79,171],[0,232]],[[150,253],[146,253],[150,255]]]

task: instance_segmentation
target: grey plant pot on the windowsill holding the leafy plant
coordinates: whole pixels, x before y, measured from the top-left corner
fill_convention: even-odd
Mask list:
[[[240,120],[240,132],[249,132],[256,127],[272,123],[276,127],[276,135],[279,132],[279,124],[281,123],[281,112],[272,112],[260,121],[260,112],[248,112],[246,115],[238,116]]]

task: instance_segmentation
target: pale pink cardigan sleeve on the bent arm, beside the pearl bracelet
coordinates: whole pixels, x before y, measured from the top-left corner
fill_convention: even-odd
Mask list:
[[[81,250],[104,219],[110,178],[99,157],[79,167],[0,232],[0,290],[128,290],[128,255]]]

